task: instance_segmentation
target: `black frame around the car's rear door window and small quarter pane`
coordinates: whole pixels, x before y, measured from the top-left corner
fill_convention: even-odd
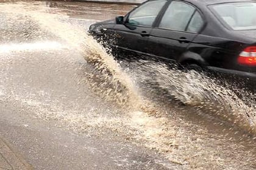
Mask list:
[[[166,10],[168,9],[169,5],[171,5],[171,3],[174,2],[174,1],[176,1],[176,2],[182,2],[182,3],[185,3],[185,4],[191,5],[191,6],[194,7],[194,9],[195,9],[193,15],[192,15],[191,18],[190,18],[190,21],[188,21],[188,24],[187,24],[185,30],[172,30],[172,29],[164,29],[164,28],[160,28],[160,27],[159,27],[160,22],[161,22],[162,19],[163,19],[163,15],[165,15],[165,12],[166,12]],[[206,27],[206,25],[207,25],[207,21],[206,21],[206,19],[205,19],[204,13],[202,13],[202,11],[201,11],[198,7],[196,7],[196,5],[191,4],[190,2],[187,2],[187,1],[179,1],[179,0],[169,0],[168,3],[166,3],[165,5],[166,5],[165,10],[162,11],[161,17],[160,17],[160,18],[157,18],[157,19],[158,19],[158,22],[154,25],[154,28],[155,28],[155,29],[171,30],[171,31],[176,31],[176,32],[185,32],[185,33],[194,33],[194,34],[199,34],[199,33],[202,32],[202,30],[205,29],[205,27]],[[195,32],[188,32],[188,31],[187,31],[187,28],[188,28],[188,26],[189,26],[191,20],[193,19],[194,14],[195,14],[196,12],[198,12],[199,15],[201,15],[201,18],[202,18],[202,21],[204,22],[204,24],[202,25],[202,28],[201,28],[201,30],[200,30],[198,33],[195,33]]]

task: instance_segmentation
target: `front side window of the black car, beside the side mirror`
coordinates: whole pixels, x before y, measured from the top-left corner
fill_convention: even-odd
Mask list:
[[[130,13],[127,24],[152,26],[166,1],[149,1]]]

